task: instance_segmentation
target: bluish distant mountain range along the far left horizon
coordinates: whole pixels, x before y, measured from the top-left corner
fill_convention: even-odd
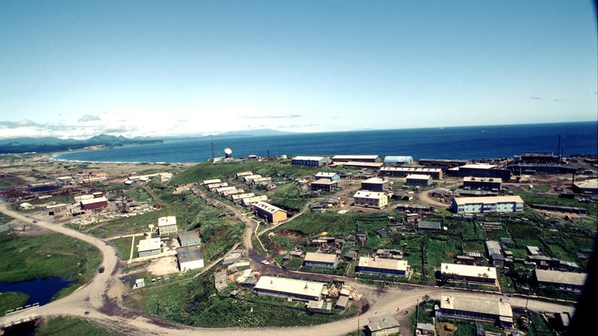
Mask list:
[[[8,153],[50,153],[65,150],[76,150],[89,146],[125,146],[146,143],[161,143],[157,138],[125,138],[124,136],[109,136],[101,134],[87,140],[44,138],[6,138],[0,140],[0,154]]]

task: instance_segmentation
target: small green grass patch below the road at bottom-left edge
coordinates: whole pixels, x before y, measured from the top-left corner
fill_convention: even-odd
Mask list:
[[[80,336],[80,335],[94,335],[94,336],[120,336],[120,332],[108,330],[91,323],[74,317],[58,317],[52,318],[50,321],[40,325],[35,329],[36,336]]]

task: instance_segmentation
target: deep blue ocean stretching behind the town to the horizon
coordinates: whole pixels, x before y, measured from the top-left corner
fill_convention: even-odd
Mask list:
[[[564,157],[598,153],[598,122],[441,127],[378,131],[300,133],[276,136],[203,137],[163,143],[76,151],[53,157],[77,162],[198,163],[231,148],[233,157],[257,155],[407,155],[414,160],[490,159],[524,152]]]

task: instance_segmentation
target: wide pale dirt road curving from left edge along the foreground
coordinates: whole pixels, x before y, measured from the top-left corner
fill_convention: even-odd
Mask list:
[[[79,288],[68,297],[59,299],[38,308],[27,311],[20,311],[15,314],[0,318],[0,325],[5,325],[11,321],[17,321],[21,318],[31,316],[77,316],[86,318],[95,323],[105,325],[108,328],[123,332],[127,335],[189,335],[190,333],[198,335],[279,335],[284,332],[285,336],[299,335],[346,335],[357,329],[357,325],[367,323],[367,318],[381,314],[395,314],[397,306],[402,309],[409,309],[416,304],[417,299],[424,295],[439,298],[440,295],[454,294],[460,297],[473,297],[476,299],[489,299],[497,301],[500,298],[507,299],[504,295],[491,295],[476,292],[461,292],[455,290],[443,290],[437,287],[414,287],[413,289],[386,288],[376,290],[371,288],[367,292],[367,299],[370,309],[362,316],[348,318],[343,321],[317,325],[312,327],[299,328],[259,328],[259,329],[205,329],[192,328],[184,325],[175,325],[160,321],[156,318],[143,316],[135,311],[120,306],[122,295],[122,283],[117,278],[118,259],[117,251],[114,247],[107,245],[103,240],[80,233],[79,231],[65,228],[58,224],[50,224],[38,219],[37,224],[32,223],[32,219],[22,214],[13,212],[6,208],[6,204],[0,203],[0,211],[15,217],[25,223],[37,225],[58,233],[69,235],[90,243],[101,251],[103,255],[103,266],[106,272],[98,273],[90,283]],[[507,299],[513,306],[526,306],[526,298],[514,297]],[[572,311],[570,306],[552,304],[548,302],[539,302],[533,299],[529,300],[528,307],[539,311]],[[85,315],[84,311],[90,311]]]

